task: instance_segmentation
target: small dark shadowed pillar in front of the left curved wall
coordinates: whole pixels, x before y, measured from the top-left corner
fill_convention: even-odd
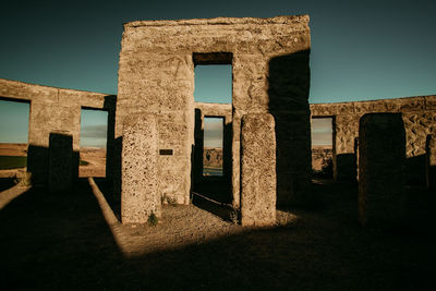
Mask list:
[[[49,191],[70,191],[73,182],[73,137],[68,132],[50,133],[48,149]]]

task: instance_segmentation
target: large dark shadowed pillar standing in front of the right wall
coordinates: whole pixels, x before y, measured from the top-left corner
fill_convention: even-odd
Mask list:
[[[401,113],[368,113],[359,126],[359,220],[392,226],[403,217],[405,132]]]

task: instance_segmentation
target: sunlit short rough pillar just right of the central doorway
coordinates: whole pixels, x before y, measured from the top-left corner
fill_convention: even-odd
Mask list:
[[[276,133],[271,114],[250,113],[241,130],[241,222],[276,222]]]

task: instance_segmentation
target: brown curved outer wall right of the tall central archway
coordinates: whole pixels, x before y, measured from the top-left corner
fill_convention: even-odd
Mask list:
[[[354,180],[354,138],[365,113],[401,112],[405,128],[408,181],[425,181],[425,140],[436,134],[436,96],[311,105],[312,117],[332,117],[334,171],[337,180]]]

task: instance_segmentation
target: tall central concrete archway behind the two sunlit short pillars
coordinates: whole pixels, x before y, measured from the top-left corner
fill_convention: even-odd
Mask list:
[[[241,118],[271,112],[279,134],[283,202],[304,190],[311,170],[308,16],[140,21],[124,25],[120,53],[116,138],[123,119],[159,114],[159,192],[189,203],[194,144],[194,64],[232,64],[232,192],[240,201]],[[168,116],[160,121],[160,114]],[[289,154],[291,153],[291,154]],[[303,158],[301,158],[303,157]]]

